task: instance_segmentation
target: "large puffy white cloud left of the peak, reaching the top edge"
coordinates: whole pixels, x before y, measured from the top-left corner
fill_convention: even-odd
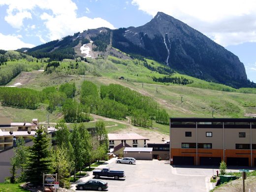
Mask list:
[[[35,8],[44,10],[40,18],[44,20],[44,25],[49,31],[47,36],[49,40],[59,39],[73,32],[82,32],[87,29],[99,27],[114,29],[112,24],[101,18],[77,17],[77,6],[72,0],[1,0],[0,5],[4,4],[8,5],[7,20],[5,20],[17,28],[23,26],[25,18],[32,18],[31,12]],[[46,10],[50,12],[46,13]],[[17,14],[23,17],[18,18]],[[10,19],[13,17],[15,21]]]

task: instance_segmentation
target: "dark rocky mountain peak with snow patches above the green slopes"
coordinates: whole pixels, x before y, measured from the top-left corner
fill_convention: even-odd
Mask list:
[[[22,50],[22,49],[21,49]],[[122,53],[127,53],[122,54]],[[252,87],[239,58],[223,46],[162,12],[140,27],[98,28],[26,49],[52,60],[77,57],[150,58],[179,73],[234,88]]]

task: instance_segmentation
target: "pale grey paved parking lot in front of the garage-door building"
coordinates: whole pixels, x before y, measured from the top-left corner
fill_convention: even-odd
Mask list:
[[[126,174],[120,180],[100,178],[108,182],[105,191],[109,192],[206,192],[206,179],[212,175],[212,169],[192,172],[190,168],[173,168],[159,160],[137,160],[135,165],[112,160],[106,166],[110,170],[124,170]]]

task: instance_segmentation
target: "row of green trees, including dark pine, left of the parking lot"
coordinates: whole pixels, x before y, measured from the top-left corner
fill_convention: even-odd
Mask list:
[[[17,140],[11,159],[11,183],[30,182],[38,186],[42,185],[43,173],[58,173],[60,187],[69,188],[70,175],[74,175],[73,181],[76,181],[77,170],[81,172],[81,167],[90,166],[95,160],[105,160],[108,137],[103,122],[96,123],[93,135],[84,124],[75,124],[70,131],[64,120],[57,123],[56,129],[55,149],[43,127],[36,130],[31,147],[25,147],[23,137]],[[17,169],[21,170],[18,178]]]

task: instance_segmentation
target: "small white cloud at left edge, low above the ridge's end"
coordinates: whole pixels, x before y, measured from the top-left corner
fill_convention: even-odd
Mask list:
[[[4,35],[0,33],[0,49],[4,50],[16,50],[22,47],[34,47],[34,45],[30,43],[25,43],[21,39],[21,36],[17,35]]]

